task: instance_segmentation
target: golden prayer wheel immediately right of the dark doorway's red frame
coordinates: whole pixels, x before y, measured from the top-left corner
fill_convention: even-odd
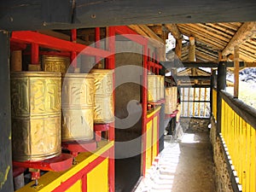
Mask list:
[[[148,102],[156,102],[157,96],[157,76],[148,75]]]

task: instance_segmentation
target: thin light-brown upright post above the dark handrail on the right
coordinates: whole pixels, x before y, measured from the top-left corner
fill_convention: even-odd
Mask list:
[[[239,94],[239,47],[234,49],[234,97],[238,98]]]

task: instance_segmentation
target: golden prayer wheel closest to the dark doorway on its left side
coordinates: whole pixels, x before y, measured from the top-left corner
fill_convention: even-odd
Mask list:
[[[94,123],[113,122],[113,70],[92,69],[95,77]]]

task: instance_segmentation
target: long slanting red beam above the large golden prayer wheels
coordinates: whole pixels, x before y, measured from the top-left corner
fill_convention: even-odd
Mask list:
[[[84,55],[108,57],[112,53],[103,50],[96,49],[84,44],[75,44],[60,38],[53,38],[48,35],[40,34],[38,32],[24,31],[24,32],[12,32],[11,41],[16,43],[32,44],[37,43],[42,47],[50,49],[58,49],[62,51],[75,51]]]

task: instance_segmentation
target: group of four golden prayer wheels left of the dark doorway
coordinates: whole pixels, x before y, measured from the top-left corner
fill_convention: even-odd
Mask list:
[[[55,157],[61,142],[90,141],[94,124],[113,121],[113,71],[66,73],[69,63],[43,56],[44,72],[11,73],[14,160]]]

